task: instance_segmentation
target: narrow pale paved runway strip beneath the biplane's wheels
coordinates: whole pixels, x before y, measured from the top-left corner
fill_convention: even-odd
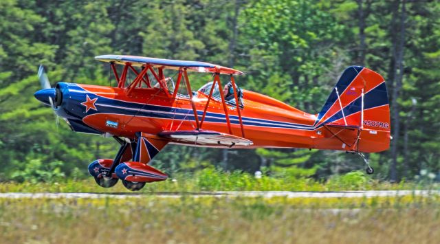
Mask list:
[[[287,192],[287,191],[268,191],[268,192],[120,192],[120,193],[0,193],[2,199],[98,199],[98,198],[141,198],[141,197],[160,197],[178,198],[186,197],[287,197],[287,198],[329,198],[329,197],[396,197],[396,196],[423,196],[429,197],[440,195],[440,190],[357,190],[340,192]]]

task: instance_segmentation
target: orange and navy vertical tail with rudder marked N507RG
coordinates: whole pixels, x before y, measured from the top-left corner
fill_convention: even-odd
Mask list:
[[[317,115],[315,126],[325,125],[359,128],[355,151],[388,149],[391,122],[384,78],[365,67],[345,69]]]

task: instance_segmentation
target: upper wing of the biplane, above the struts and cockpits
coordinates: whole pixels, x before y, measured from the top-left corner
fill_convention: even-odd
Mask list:
[[[129,55],[101,55],[96,56],[95,59],[102,62],[114,62],[119,64],[131,63],[133,66],[142,66],[145,64],[153,67],[163,67],[165,69],[179,69],[181,67],[188,70],[203,72],[203,73],[219,73],[219,74],[243,74],[242,71],[223,67],[221,65],[214,65],[212,63],[204,63],[198,61],[187,60],[172,60],[164,58],[148,58],[141,56]]]

